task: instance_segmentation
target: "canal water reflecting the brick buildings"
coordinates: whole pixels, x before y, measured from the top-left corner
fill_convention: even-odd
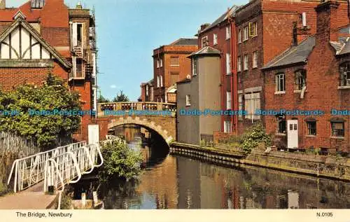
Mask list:
[[[138,138],[137,138],[138,139]],[[129,140],[131,148],[137,141]],[[138,181],[98,186],[106,209],[350,209],[350,184],[258,167],[224,167],[169,155],[167,144],[142,144]],[[81,190],[97,187],[83,180]]]

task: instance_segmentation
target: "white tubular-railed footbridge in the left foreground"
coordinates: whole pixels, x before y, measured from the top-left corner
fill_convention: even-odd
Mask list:
[[[110,141],[113,138],[107,138]],[[76,183],[84,174],[102,166],[104,159],[100,150],[102,141],[87,144],[85,141],[36,153],[13,162],[8,185],[13,183],[13,192],[20,193],[33,186],[43,186],[43,193],[57,191],[59,204],[64,186]]]

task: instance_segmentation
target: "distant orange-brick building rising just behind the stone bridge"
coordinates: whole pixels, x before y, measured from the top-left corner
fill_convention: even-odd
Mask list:
[[[176,87],[175,90],[174,87],[170,87],[191,74],[188,55],[196,50],[197,39],[178,39],[153,50],[153,102],[176,102]],[[148,94],[151,94],[151,91]]]

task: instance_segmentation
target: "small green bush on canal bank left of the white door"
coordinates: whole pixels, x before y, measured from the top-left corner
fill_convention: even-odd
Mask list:
[[[265,144],[265,146],[271,146],[272,144],[271,137],[266,134],[265,128],[261,124],[257,124],[244,132],[241,147],[244,153],[248,154],[261,143]]]

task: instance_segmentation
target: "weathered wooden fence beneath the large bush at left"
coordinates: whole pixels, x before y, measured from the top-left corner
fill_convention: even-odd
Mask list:
[[[57,137],[55,143],[43,150],[36,144],[35,139],[27,139],[27,137],[18,136],[9,132],[0,132],[0,155],[3,153],[13,153],[23,158],[35,153],[40,153],[58,146],[71,144],[73,139],[70,137]]]

